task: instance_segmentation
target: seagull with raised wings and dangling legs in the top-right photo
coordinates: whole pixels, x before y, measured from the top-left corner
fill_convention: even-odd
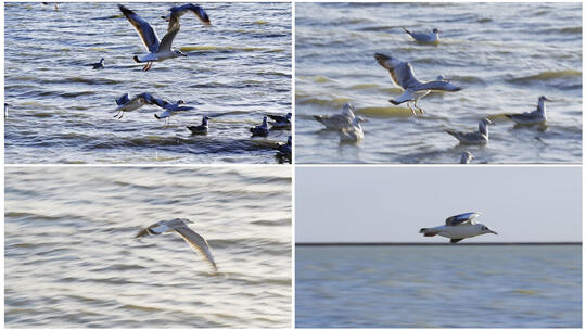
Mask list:
[[[438,80],[435,81],[419,81],[415,74],[413,68],[409,62],[402,62],[397,59],[387,56],[385,54],[377,53],[374,59],[379,64],[388,69],[391,73],[391,78],[395,86],[402,88],[404,92],[395,100],[388,100],[388,102],[398,105],[403,102],[413,102],[413,107],[423,113],[423,110],[417,106],[417,101],[430,91],[459,91],[460,87],[449,82],[443,78],[443,76],[437,77]],[[409,103],[407,103],[409,105]],[[415,115],[415,110],[409,105],[409,109]]]

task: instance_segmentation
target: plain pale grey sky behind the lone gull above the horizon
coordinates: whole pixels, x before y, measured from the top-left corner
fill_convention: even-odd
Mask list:
[[[447,242],[419,229],[449,216],[495,234],[468,242],[581,242],[578,166],[300,166],[295,169],[295,241]]]

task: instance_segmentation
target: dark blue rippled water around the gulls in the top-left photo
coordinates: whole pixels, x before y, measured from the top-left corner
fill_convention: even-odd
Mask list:
[[[275,142],[290,131],[251,139],[266,113],[291,112],[291,4],[203,7],[212,26],[190,14],[174,41],[188,58],[154,63],[117,3],[4,4],[4,126],[8,163],[276,163]],[[171,3],[128,7],[153,25]],[[85,66],[105,58],[105,69]],[[149,91],[196,110],[171,117],[155,106],[113,118],[115,99]],[[208,136],[186,128],[208,115]]]

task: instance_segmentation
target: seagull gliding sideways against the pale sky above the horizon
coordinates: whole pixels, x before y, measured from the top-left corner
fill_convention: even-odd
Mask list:
[[[463,239],[483,233],[498,234],[488,229],[488,227],[474,223],[474,218],[479,217],[480,215],[480,212],[470,212],[450,216],[446,219],[446,225],[433,228],[421,228],[419,232],[423,233],[424,237],[432,237],[436,234],[446,237],[450,239],[450,243],[458,243]]]

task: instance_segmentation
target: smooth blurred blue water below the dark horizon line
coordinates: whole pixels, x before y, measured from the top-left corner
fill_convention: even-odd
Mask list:
[[[582,246],[297,246],[297,328],[582,328]]]

